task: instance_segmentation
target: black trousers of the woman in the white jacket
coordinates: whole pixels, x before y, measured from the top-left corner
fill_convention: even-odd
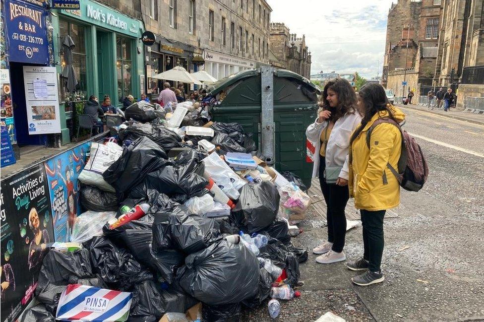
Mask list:
[[[326,201],[328,221],[328,242],[333,243],[332,250],[341,253],[345,247],[346,216],[345,207],[350,198],[348,186],[327,184],[324,180],[325,158],[319,156],[319,184]]]

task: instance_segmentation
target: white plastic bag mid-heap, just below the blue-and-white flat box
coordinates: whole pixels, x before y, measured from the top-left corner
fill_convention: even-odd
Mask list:
[[[231,199],[239,199],[239,189],[246,184],[217,153],[213,152],[203,159],[205,164],[205,179],[212,178],[219,188]]]

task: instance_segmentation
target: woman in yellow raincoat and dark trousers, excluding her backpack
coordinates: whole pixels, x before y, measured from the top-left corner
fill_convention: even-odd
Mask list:
[[[349,190],[360,209],[363,224],[363,258],[348,261],[346,266],[355,271],[365,271],[353,277],[353,283],[366,286],[384,280],[380,264],[383,254],[383,217],[386,209],[400,203],[400,185],[387,167],[397,169],[402,150],[400,130],[389,123],[372,129],[370,146],[367,131],[378,118],[391,118],[397,123],[405,114],[390,105],[385,90],[379,84],[366,84],[360,89],[358,107],[363,114],[361,125],[351,135]],[[383,174],[383,175],[382,175]]]

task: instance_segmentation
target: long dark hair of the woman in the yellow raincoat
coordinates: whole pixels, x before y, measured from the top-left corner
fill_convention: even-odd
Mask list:
[[[363,87],[358,92],[360,96],[360,102],[363,105],[363,119],[360,127],[353,133],[350,139],[350,144],[355,138],[360,135],[363,128],[371,120],[373,115],[381,111],[387,111],[390,119],[395,121],[393,112],[390,109],[390,102],[386,97],[385,89],[380,84],[368,83],[363,85]]]

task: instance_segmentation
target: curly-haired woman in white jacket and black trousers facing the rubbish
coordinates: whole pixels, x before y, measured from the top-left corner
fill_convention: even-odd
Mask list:
[[[348,145],[350,136],[362,120],[357,96],[346,79],[328,81],[323,90],[323,108],[306,129],[306,137],[315,145],[312,177],[319,176],[326,201],[328,241],[313,249],[318,263],[346,259],[343,248],[346,236],[345,207],[348,191]]]

